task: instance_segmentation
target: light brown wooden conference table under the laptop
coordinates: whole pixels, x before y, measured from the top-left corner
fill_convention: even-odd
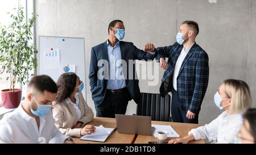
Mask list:
[[[117,125],[115,123],[115,119],[113,118],[94,118],[94,120],[88,124],[99,126],[103,125],[106,128],[116,128]],[[171,125],[172,128],[181,136],[187,136],[188,132],[192,128],[197,128],[199,124],[188,124],[188,123],[172,123],[172,122],[159,122],[152,121],[152,124],[160,124],[160,125]],[[80,138],[73,138],[75,143],[84,143],[84,144],[100,144],[101,142],[97,141],[87,141],[80,140]],[[166,141],[171,140],[168,138]],[[133,134],[123,134],[118,133],[117,130],[113,132],[104,144],[148,144],[148,141],[159,141],[154,136],[143,136],[143,135],[133,135]],[[204,140],[191,141],[191,143],[204,143]]]

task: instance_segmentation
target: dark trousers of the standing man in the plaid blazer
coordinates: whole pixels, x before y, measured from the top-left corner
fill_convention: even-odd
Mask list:
[[[171,113],[172,113],[172,122],[198,124],[197,114],[194,119],[188,119],[186,117],[187,111],[183,111],[181,106],[179,105],[179,99],[177,97],[177,91],[175,89],[172,90]]]

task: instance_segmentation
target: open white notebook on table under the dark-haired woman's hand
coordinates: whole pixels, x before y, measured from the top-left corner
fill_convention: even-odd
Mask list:
[[[80,140],[90,140],[90,141],[101,141],[105,142],[106,139],[114,132],[114,128],[105,128],[102,125],[95,127],[96,132],[91,133],[90,135],[84,135]]]

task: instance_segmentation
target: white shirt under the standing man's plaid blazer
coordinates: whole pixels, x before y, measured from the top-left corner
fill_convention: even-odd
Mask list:
[[[195,43],[193,43],[193,44],[195,44]],[[177,62],[176,62],[175,68],[174,68],[174,78],[172,78],[172,83],[173,83],[175,90],[177,90],[177,76],[180,72],[181,65],[182,65],[185,57],[187,56],[189,50],[193,46],[193,44],[186,51],[185,51],[185,48],[183,47],[183,49],[181,50],[180,55],[177,59]]]

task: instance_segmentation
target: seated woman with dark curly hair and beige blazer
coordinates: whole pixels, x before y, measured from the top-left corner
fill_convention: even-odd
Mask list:
[[[75,73],[64,73],[57,81],[57,96],[53,102],[55,125],[64,135],[81,137],[95,131],[93,125],[82,125],[93,120],[93,111],[82,97],[84,83]]]

